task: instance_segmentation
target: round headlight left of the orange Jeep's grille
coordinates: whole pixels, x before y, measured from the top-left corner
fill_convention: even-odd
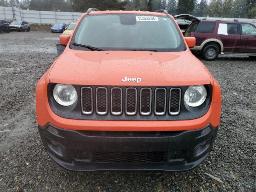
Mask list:
[[[58,104],[70,106],[77,100],[76,89],[72,85],[56,84],[53,89],[53,97]]]

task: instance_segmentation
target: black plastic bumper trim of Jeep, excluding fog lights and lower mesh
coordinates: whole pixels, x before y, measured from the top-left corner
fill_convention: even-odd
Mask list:
[[[58,135],[47,130],[52,126],[58,131]],[[202,130],[210,127],[206,134]],[[162,171],[184,171],[196,168],[209,154],[212,144],[216,138],[218,127],[210,124],[198,130],[188,131],[164,131],[164,132],[133,132],[128,131],[76,131],[61,129],[52,124],[38,126],[42,142],[49,156],[58,165],[73,171],[98,171],[98,170],[162,170]],[[52,151],[46,139],[49,138],[64,146],[66,158]],[[211,139],[210,145],[200,155],[194,157],[194,150],[198,144]],[[84,150],[88,154],[93,152],[152,152],[173,150],[186,151],[186,156],[181,160],[168,160],[159,163],[105,163],[95,162],[93,156],[88,160],[77,160],[74,150]]]

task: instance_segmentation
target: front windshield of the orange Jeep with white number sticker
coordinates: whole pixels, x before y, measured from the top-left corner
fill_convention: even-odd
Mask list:
[[[102,50],[185,50],[182,36],[171,18],[140,14],[84,16],[70,46],[81,50],[76,44]]]

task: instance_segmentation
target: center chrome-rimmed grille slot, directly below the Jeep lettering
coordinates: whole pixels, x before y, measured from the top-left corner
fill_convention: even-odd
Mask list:
[[[137,112],[137,89],[126,88],[125,90],[125,112],[127,115],[135,115]]]

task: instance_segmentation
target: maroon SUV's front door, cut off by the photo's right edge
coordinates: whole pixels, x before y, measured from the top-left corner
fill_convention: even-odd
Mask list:
[[[256,54],[256,27],[249,23],[240,23],[240,30],[240,52]]]

